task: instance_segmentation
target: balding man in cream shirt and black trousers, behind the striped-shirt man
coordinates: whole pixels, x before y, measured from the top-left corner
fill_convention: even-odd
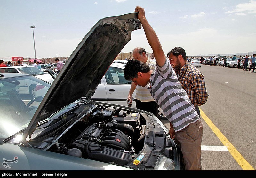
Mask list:
[[[132,50],[132,56],[134,59],[146,63],[151,70],[153,70],[156,67],[156,62],[148,58],[148,56],[146,55],[146,50],[144,48],[141,48],[141,47],[134,48]],[[128,100],[132,102],[131,97],[135,89],[136,89],[136,95],[135,95],[136,108],[147,111],[147,112],[151,112],[155,114],[155,116],[157,116],[158,105],[155,102],[154,98],[149,93],[147,87],[136,86],[132,82],[132,85],[127,97]]]

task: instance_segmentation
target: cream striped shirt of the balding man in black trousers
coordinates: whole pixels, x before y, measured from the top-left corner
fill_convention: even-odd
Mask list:
[[[153,60],[146,61],[146,64],[150,67],[151,70],[154,70],[156,68],[156,62]],[[150,92],[146,87],[141,87],[139,85],[136,86],[136,100],[140,100],[141,102],[149,102],[149,101],[155,101],[154,98],[151,96]]]

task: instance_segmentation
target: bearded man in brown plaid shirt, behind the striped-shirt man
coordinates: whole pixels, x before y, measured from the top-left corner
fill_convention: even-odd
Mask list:
[[[198,106],[206,103],[208,99],[208,92],[205,88],[204,76],[196,69],[195,66],[189,64],[186,60],[186,52],[182,47],[173,48],[167,57],[174,70],[182,87],[188,94],[192,104],[200,116]]]

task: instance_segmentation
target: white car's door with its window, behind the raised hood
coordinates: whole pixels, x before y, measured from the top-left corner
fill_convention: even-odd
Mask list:
[[[124,78],[124,68],[110,66],[95,90],[92,100],[128,106],[126,100],[131,83],[132,81]],[[133,93],[135,97],[136,90]],[[136,107],[135,103],[132,103],[132,107]]]

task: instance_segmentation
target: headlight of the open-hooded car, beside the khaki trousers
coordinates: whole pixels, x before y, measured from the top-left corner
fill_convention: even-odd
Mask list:
[[[173,171],[175,168],[175,163],[172,161],[172,159],[167,158],[163,155],[159,155],[157,161],[156,161],[156,166],[154,170],[159,171],[159,170],[167,170],[167,171]]]

